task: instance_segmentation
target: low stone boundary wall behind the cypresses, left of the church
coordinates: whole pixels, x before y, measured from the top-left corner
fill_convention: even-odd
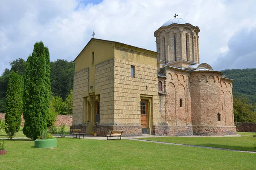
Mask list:
[[[5,120],[5,113],[0,113],[0,119]],[[65,123],[66,126],[72,126],[72,116],[70,115],[58,115],[57,121],[55,122],[55,126],[61,126],[62,123]],[[23,115],[21,115],[21,124],[20,126],[24,126]]]

